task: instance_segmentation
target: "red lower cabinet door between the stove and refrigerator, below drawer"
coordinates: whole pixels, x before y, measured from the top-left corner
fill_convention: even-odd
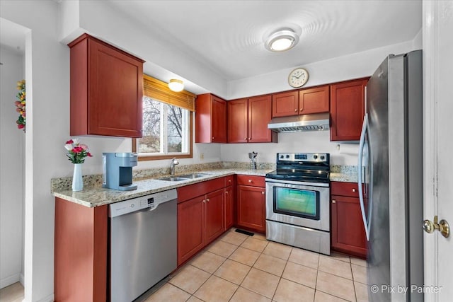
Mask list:
[[[359,257],[367,257],[367,238],[360,202],[356,197],[332,195],[332,248]]]

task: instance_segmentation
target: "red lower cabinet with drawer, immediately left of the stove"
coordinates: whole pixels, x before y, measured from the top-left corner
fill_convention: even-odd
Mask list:
[[[238,175],[237,190],[237,226],[265,233],[264,178]]]

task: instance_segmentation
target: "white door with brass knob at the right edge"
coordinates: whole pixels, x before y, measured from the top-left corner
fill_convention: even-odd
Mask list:
[[[423,1],[424,217],[453,227],[453,1]],[[420,221],[421,226],[421,221]],[[425,301],[453,301],[453,235],[424,235]],[[436,292],[438,291],[438,293]]]

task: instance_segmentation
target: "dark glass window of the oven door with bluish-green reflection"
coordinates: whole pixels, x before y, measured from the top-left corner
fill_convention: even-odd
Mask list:
[[[319,220],[319,192],[274,187],[274,212]]]

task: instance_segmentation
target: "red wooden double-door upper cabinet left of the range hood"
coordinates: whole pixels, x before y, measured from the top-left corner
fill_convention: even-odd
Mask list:
[[[228,102],[229,143],[277,142],[277,134],[268,129],[272,118],[271,95],[241,98]]]

